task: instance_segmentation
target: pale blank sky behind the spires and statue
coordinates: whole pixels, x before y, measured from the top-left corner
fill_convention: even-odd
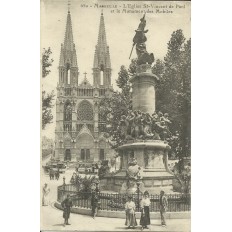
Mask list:
[[[72,19],[73,38],[77,50],[77,63],[79,68],[79,83],[83,79],[83,73],[87,72],[87,78],[92,83],[92,67],[95,46],[97,44],[98,29],[102,8],[94,7],[94,3],[99,5],[117,5],[122,11],[123,4],[153,4],[155,6],[166,6],[164,10],[172,10],[173,13],[153,13],[146,14],[147,20],[147,50],[153,52],[155,59],[163,59],[167,52],[167,43],[173,31],[182,29],[186,39],[190,38],[190,4],[191,2],[144,2],[139,1],[81,1],[71,0],[70,12]],[[68,12],[68,1],[64,0],[41,0],[41,50],[51,47],[52,58],[54,59],[51,73],[42,80],[42,88],[47,91],[55,90],[58,82],[58,65],[60,46],[64,42],[65,26]],[[88,5],[87,8],[81,4]],[[169,5],[173,8],[169,8]],[[177,5],[178,6],[177,6]],[[180,6],[184,8],[179,8]],[[92,6],[92,7],[90,7]],[[177,7],[177,8],[176,8]],[[116,88],[115,80],[121,65],[130,64],[129,54],[132,47],[134,30],[137,29],[142,13],[112,13],[115,8],[104,8],[106,39],[110,49],[112,66],[112,84]],[[132,10],[127,8],[126,10]],[[137,8],[144,10],[144,8]],[[136,58],[135,50],[132,58]],[[56,90],[55,90],[56,91]],[[55,113],[55,109],[53,109]],[[54,120],[55,122],[55,115]],[[55,123],[49,125],[42,135],[54,138]]]

